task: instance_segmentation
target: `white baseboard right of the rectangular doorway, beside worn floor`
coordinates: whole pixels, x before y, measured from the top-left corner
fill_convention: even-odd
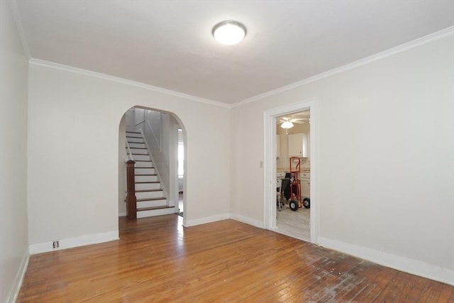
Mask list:
[[[370,260],[373,263],[394,268],[402,272],[408,272],[413,275],[419,275],[431,280],[436,280],[449,285],[454,285],[454,270],[441,268],[436,265],[424,263],[419,260],[405,258],[400,255],[392,255],[390,253],[383,253],[378,250],[356,246],[341,241],[336,241],[328,238],[319,237],[319,245],[330,248],[333,250],[348,253],[358,258]]]

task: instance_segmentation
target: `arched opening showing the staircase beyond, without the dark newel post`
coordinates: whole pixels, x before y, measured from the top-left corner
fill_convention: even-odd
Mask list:
[[[118,216],[127,214],[128,160],[135,162],[136,216],[184,216],[184,144],[184,126],[175,114],[144,106],[126,111],[118,131]]]

